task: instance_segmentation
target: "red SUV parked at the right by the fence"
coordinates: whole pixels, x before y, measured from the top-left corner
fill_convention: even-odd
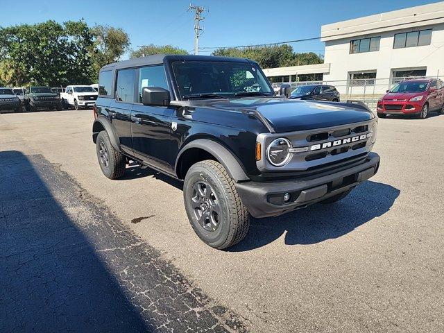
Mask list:
[[[427,114],[444,113],[444,82],[434,78],[404,80],[395,85],[377,102],[377,115],[416,114],[425,119]]]

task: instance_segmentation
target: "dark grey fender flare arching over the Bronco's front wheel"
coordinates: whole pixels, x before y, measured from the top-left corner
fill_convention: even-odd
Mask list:
[[[228,151],[227,148],[210,139],[196,139],[194,141],[189,142],[185,146],[183,146],[179,153],[178,157],[176,157],[176,175],[178,174],[178,162],[180,160],[180,156],[182,156],[185,151],[190,148],[200,148],[204,151],[207,151],[223,165],[225,170],[228,172],[230,177],[234,180],[250,180],[244,169],[242,169],[241,164],[237,161],[236,157]]]

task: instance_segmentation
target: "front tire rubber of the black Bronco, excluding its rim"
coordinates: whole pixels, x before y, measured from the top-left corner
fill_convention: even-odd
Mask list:
[[[200,182],[210,185],[220,207],[219,223],[213,231],[206,230],[198,222],[193,207],[194,186]],[[205,160],[192,165],[185,176],[183,196],[191,227],[205,244],[223,250],[244,239],[250,227],[250,214],[222,164]]]

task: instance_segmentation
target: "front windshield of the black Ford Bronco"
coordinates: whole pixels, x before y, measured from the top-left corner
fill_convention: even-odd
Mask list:
[[[173,72],[182,99],[209,94],[221,98],[274,94],[259,67],[246,62],[173,62]]]

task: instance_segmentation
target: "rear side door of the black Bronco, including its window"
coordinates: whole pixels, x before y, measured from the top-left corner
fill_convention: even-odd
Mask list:
[[[131,109],[135,102],[136,69],[119,69],[116,74],[114,99],[110,103],[108,114],[114,126],[121,149],[133,155],[131,139]]]

